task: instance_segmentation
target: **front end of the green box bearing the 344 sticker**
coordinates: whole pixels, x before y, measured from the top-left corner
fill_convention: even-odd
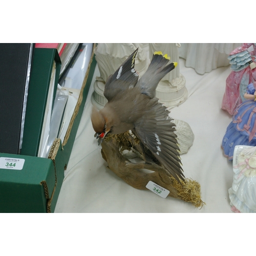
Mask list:
[[[0,212],[47,212],[56,180],[51,159],[0,154],[0,168]]]

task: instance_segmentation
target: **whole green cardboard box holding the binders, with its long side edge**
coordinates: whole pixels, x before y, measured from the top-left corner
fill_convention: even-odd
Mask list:
[[[0,153],[0,212],[54,212],[95,66],[93,49],[65,139],[55,139],[49,158]]]

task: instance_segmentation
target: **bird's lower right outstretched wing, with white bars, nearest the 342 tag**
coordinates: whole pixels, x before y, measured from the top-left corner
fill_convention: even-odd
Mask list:
[[[175,124],[168,117],[168,111],[153,98],[143,117],[135,123],[135,134],[165,167],[169,175],[179,182],[184,181]],[[179,177],[179,178],[178,178]]]

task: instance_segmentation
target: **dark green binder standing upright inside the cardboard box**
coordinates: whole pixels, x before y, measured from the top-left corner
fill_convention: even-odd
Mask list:
[[[56,49],[34,49],[20,153],[22,155],[37,156],[38,154],[45,112],[49,101],[54,101],[55,98],[60,66],[61,62]],[[50,95],[52,90],[53,95]]]

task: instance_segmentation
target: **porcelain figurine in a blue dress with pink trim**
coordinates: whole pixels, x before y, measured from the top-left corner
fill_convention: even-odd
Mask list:
[[[222,140],[225,157],[233,159],[236,145],[256,146],[256,82],[250,83],[244,94],[246,99],[234,111]]]

